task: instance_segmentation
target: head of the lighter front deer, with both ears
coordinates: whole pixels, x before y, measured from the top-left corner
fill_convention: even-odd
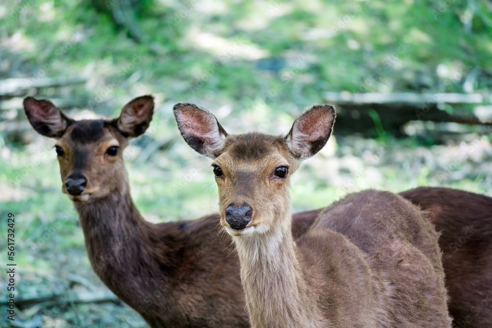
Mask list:
[[[228,135],[214,115],[179,103],[174,115],[188,145],[214,159],[220,223],[232,236],[263,234],[280,224],[290,229],[290,176],[322,149],[335,122],[335,109],[315,105],[299,116],[286,136]]]

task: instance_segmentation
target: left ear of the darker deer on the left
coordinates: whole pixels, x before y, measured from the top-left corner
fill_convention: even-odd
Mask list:
[[[24,99],[24,112],[34,130],[50,138],[60,138],[72,121],[51,101],[33,97]]]

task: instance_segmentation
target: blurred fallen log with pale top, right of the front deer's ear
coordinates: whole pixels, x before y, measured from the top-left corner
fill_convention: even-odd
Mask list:
[[[350,93],[325,92],[325,101],[337,105],[337,131],[372,134],[374,118],[382,128],[398,135],[401,127],[413,120],[492,124],[492,108],[481,104],[480,94],[465,93]],[[444,110],[446,109],[446,110]]]

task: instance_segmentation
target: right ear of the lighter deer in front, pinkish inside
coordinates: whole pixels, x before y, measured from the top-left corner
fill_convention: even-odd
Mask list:
[[[301,114],[285,137],[292,154],[306,159],[321,150],[332,134],[335,117],[331,105],[314,105]]]

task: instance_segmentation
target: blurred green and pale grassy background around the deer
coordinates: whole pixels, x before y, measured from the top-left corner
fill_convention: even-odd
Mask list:
[[[167,222],[217,209],[210,160],[172,117],[178,101],[209,109],[229,133],[275,134],[312,104],[337,104],[333,138],[294,178],[301,211],[369,187],[492,196],[491,87],[488,0],[2,1],[0,258],[13,212],[13,327],[146,327],[93,273],[54,141],[32,130],[26,95],[78,119],[116,117],[153,94],[151,128],[126,150],[126,169],[144,217]]]

